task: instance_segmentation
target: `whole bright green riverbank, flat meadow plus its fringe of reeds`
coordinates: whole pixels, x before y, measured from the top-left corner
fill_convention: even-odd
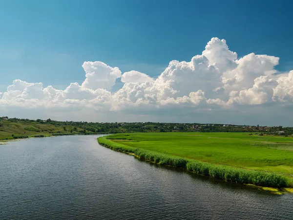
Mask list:
[[[219,179],[293,186],[293,138],[248,133],[128,133],[99,143],[162,165]]]

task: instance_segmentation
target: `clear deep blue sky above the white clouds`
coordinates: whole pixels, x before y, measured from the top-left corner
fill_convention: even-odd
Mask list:
[[[158,75],[212,37],[238,56],[280,57],[293,67],[291,1],[1,0],[1,87],[14,79],[56,88],[84,80],[84,61]]]

